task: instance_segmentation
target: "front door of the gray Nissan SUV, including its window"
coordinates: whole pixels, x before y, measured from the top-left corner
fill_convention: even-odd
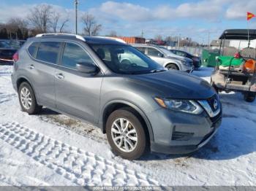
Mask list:
[[[95,64],[86,48],[75,42],[64,45],[61,65],[56,69],[56,108],[89,122],[99,119],[99,95],[102,73],[97,75],[81,73],[76,63]]]

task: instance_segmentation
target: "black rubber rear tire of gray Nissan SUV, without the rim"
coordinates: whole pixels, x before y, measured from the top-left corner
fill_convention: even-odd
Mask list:
[[[23,90],[23,88],[26,87],[27,90],[29,90],[29,93],[31,95],[31,106],[29,107],[29,109],[26,109],[23,104],[22,104],[22,101],[21,101],[21,90]],[[37,100],[36,100],[36,97],[34,95],[34,91],[33,89],[31,88],[31,86],[29,85],[28,82],[22,82],[21,85],[19,86],[18,88],[18,97],[19,97],[19,101],[20,101],[20,106],[21,106],[21,110],[23,112],[27,112],[28,114],[37,114],[41,111],[42,109],[42,106],[39,106],[37,104]]]

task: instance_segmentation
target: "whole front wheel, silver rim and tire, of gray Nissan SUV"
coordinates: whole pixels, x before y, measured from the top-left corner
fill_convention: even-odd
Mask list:
[[[118,109],[108,117],[108,142],[116,155],[138,159],[146,150],[146,134],[139,118],[130,109]]]

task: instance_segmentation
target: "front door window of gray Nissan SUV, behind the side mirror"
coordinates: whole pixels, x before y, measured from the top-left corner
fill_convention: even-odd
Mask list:
[[[77,44],[66,43],[63,56],[62,66],[75,69],[77,63],[94,63],[89,55]]]

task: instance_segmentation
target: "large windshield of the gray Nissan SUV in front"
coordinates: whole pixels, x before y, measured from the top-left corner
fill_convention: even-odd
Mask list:
[[[90,44],[111,71],[118,74],[147,74],[165,71],[132,46],[118,44]]]

